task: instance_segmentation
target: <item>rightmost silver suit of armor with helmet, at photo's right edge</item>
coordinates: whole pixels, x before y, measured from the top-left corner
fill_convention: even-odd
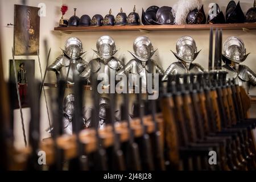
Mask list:
[[[229,37],[224,42],[223,52],[222,60],[225,65],[222,65],[222,68],[228,72],[226,81],[235,78],[236,84],[243,86],[249,93],[250,86],[256,85],[256,75],[246,65],[240,64],[249,55],[249,53],[246,54],[243,41],[235,36]]]

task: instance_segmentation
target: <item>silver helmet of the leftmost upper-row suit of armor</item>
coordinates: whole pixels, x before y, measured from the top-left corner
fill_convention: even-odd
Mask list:
[[[65,42],[65,55],[71,59],[77,59],[82,55],[82,42],[78,38],[69,38]]]

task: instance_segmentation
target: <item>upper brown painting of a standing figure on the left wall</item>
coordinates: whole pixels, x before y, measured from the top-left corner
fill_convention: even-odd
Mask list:
[[[14,5],[14,55],[37,55],[39,50],[39,7]]]

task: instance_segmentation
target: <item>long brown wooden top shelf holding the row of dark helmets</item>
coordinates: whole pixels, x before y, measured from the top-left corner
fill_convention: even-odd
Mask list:
[[[210,27],[222,30],[253,30],[256,23],[234,24],[181,24],[181,25],[138,25],[138,26],[100,26],[100,27],[55,27],[55,31],[85,32],[85,31],[172,31],[172,30],[209,30]]]

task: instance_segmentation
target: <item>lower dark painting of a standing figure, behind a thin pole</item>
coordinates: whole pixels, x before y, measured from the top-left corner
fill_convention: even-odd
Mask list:
[[[27,77],[28,75],[32,78],[35,78],[35,60],[14,60],[16,73],[18,78],[18,89],[20,95],[20,102],[22,107],[28,107],[28,98],[27,98]],[[9,60],[9,79],[12,82],[15,82],[13,60]],[[10,94],[13,94],[14,99],[14,109],[19,108],[18,96],[15,89],[10,90]]]

